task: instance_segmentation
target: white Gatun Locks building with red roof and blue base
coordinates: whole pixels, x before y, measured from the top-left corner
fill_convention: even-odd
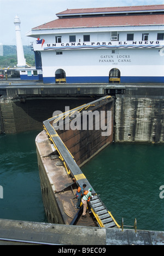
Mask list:
[[[43,82],[164,83],[164,5],[67,9],[34,27]]]

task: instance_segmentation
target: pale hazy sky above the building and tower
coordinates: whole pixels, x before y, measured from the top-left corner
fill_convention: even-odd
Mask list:
[[[27,37],[26,33],[57,19],[56,13],[63,10],[153,4],[164,4],[164,0],[0,0],[0,43],[16,45],[16,15],[21,21],[22,44],[30,45],[34,38]]]

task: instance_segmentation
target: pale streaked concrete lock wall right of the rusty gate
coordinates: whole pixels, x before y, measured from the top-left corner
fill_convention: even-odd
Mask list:
[[[163,117],[163,88],[128,88],[116,95],[114,140],[163,143]]]

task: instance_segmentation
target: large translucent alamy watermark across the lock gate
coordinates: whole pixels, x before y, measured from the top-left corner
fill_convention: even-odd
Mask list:
[[[112,111],[77,111],[65,107],[65,113],[55,111],[56,117],[52,126],[55,130],[100,130],[102,136],[109,136],[112,133]]]

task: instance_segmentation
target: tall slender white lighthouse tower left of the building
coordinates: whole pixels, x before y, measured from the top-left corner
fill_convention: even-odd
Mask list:
[[[26,59],[24,56],[24,48],[22,45],[22,38],[20,32],[20,19],[15,16],[14,18],[15,31],[16,31],[16,49],[17,49],[17,67],[25,67]]]

